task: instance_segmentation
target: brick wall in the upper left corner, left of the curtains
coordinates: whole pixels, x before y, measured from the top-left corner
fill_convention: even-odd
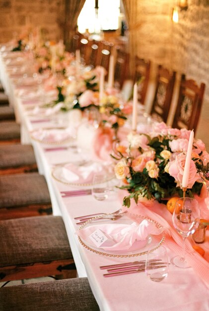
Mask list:
[[[58,19],[64,14],[63,0],[0,0],[0,43],[21,33],[25,26],[39,26],[49,39],[60,38]],[[26,17],[27,16],[27,17]]]

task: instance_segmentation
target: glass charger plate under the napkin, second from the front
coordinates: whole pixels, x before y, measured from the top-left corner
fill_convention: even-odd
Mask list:
[[[66,178],[66,176],[64,175],[64,171],[63,171],[63,169],[66,168],[70,164],[72,164],[74,166],[74,168],[76,168],[76,166],[77,166],[77,171],[78,171],[81,167],[88,169],[89,166],[92,165],[92,162],[80,160],[77,162],[69,162],[69,163],[57,165],[52,170],[52,177],[54,179],[56,179],[57,181],[60,181],[64,184],[71,185],[71,186],[78,186],[78,187],[92,186],[93,174],[94,173],[103,173],[104,172],[104,175],[107,176],[107,178],[104,181],[109,181],[109,180],[112,180],[113,178],[115,178],[115,173],[112,171],[112,169],[109,166],[104,166],[104,165],[98,163],[98,165],[101,166],[102,171],[99,171],[99,172],[97,172],[97,171],[93,172],[92,171],[91,172],[92,178],[90,180],[88,179],[88,181],[86,181],[86,182],[81,182],[78,179],[77,181],[72,182],[68,178]]]

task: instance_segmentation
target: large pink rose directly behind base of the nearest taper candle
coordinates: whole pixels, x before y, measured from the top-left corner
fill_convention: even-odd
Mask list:
[[[186,156],[181,153],[176,156],[175,160],[170,162],[168,172],[171,176],[175,178],[177,182],[177,186],[181,186],[182,178],[184,173]],[[195,166],[195,162],[191,160],[190,171],[189,171],[189,183],[188,188],[192,188],[194,183],[200,178],[199,174],[197,174],[197,168]]]

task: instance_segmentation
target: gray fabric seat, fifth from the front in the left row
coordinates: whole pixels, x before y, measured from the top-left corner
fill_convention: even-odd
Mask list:
[[[20,126],[15,121],[0,122],[0,141],[19,140]]]

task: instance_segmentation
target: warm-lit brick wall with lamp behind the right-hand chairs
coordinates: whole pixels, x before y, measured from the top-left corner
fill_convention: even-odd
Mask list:
[[[162,64],[198,83],[206,83],[203,109],[199,121],[197,138],[206,142],[209,151],[209,0],[188,0],[188,9],[179,12],[179,22],[172,22],[172,8],[176,0],[139,0],[137,29],[130,34],[139,57],[153,63],[154,80],[157,64]],[[132,49],[133,51],[134,49]],[[174,101],[175,101],[174,97]],[[151,96],[147,98],[149,107]],[[171,107],[169,122],[175,111]],[[168,123],[169,123],[168,122]]]

